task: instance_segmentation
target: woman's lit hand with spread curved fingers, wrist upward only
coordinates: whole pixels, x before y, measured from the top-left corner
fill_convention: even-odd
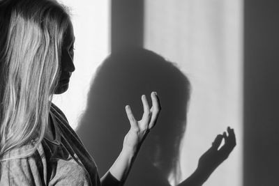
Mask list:
[[[126,134],[123,141],[123,148],[137,152],[140,148],[142,141],[144,141],[146,134],[149,133],[155,125],[160,113],[160,100],[156,92],[151,93],[152,107],[149,108],[146,95],[142,95],[142,104],[144,107],[144,114],[140,121],[137,121],[133,115],[130,106],[126,106],[126,114],[130,121],[130,130]]]

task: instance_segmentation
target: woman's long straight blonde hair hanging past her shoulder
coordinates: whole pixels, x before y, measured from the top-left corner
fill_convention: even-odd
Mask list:
[[[1,161],[28,157],[43,140],[69,22],[67,9],[56,1],[0,1]],[[26,153],[2,158],[31,141]]]

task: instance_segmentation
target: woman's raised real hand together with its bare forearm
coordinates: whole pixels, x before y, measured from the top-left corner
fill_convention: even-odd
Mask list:
[[[135,157],[137,156],[137,152],[140,149],[140,145],[142,144],[142,141],[144,141],[149,130],[151,130],[156,124],[161,109],[160,101],[156,92],[151,93],[151,99],[152,107],[150,109],[146,96],[142,95],[144,114],[140,121],[135,119],[130,107],[128,105],[126,106],[126,113],[130,121],[130,130],[124,138],[123,149],[119,157],[117,157],[114,164],[112,164],[110,171],[101,178],[101,183],[104,185],[105,183],[110,183],[110,177],[112,176],[118,180],[116,181],[118,183],[115,183],[114,185],[123,185],[125,183]],[[112,176],[110,176],[110,173]]]

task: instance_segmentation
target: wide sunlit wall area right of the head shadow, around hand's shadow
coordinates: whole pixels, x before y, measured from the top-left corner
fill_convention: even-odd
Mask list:
[[[237,146],[204,185],[242,185],[242,0],[144,3],[144,47],[177,63],[192,86],[181,150],[183,179],[229,125]]]

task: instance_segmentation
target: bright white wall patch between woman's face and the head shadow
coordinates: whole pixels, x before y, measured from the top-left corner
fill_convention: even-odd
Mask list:
[[[74,129],[86,109],[87,93],[98,65],[110,49],[110,1],[60,0],[71,10],[75,32],[75,72],[68,91],[54,95],[53,102],[66,114]]]

